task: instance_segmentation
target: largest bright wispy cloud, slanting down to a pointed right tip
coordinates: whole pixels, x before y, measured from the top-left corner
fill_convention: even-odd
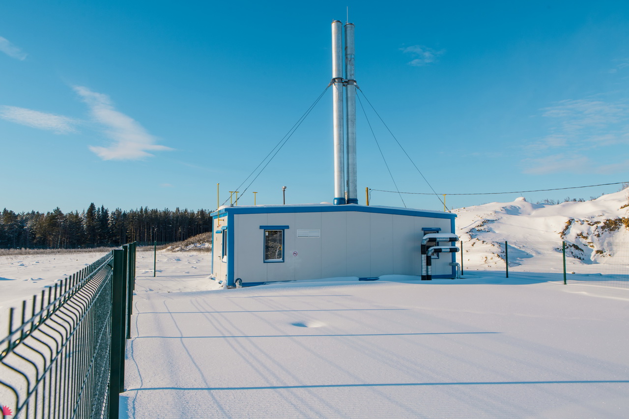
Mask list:
[[[140,123],[117,111],[106,94],[92,92],[83,86],[75,86],[74,91],[87,103],[94,120],[104,126],[104,134],[113,140],[109,147],[89,147],[101,159],[138,160],[152,156],[149,151],[172,150],[156,144],[157,138]]]

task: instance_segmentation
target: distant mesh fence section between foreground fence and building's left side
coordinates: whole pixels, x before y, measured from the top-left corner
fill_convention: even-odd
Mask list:
[[[138,276],[195,276],[211,274],[208,248],[173,252],[169,243],[151,243],[137,248]]]

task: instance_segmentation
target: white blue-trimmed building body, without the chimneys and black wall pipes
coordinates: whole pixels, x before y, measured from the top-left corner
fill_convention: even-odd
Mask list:
[[[454,233],[456,215],[358,204],[303,204],[225,206],[212,216],[213,277],[239,286],[328,277],[420,276],[425,263],[423,238]],[[454,253],[430,257],[433,278],[455,277]]]

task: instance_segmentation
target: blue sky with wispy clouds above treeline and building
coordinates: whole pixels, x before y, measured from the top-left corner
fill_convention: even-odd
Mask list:
[[[5,1],[0,207],[216,208],[216,184],[222,203],[325,89],[346,6],[357,82],[437,193],[629,181],[626,1]],[[430,193],[367,116],[399,190]],[[360,108],[357,123],[362,204],[395,186]],[[287,203],[331,201],[332,151],[328,91],[240,204],[281,203],[282,186]]]

